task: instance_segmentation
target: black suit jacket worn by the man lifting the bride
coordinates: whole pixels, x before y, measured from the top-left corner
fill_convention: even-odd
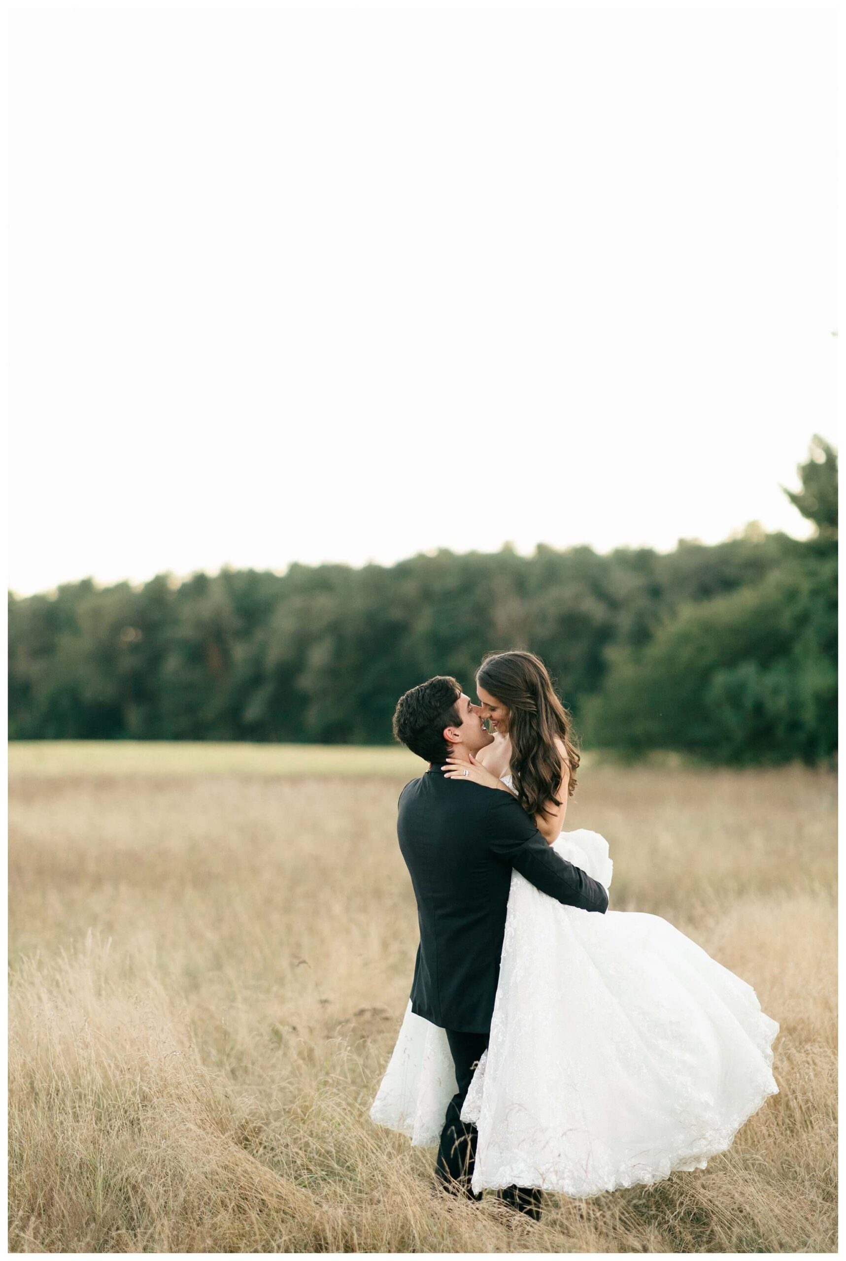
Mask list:
[[[512,868],[566,905],[608,909],[604,885],[550,849],[508,792],[432,767],[402,789],[397,834],[420,922],[411,1010],[443,1029],[490,1029]]]

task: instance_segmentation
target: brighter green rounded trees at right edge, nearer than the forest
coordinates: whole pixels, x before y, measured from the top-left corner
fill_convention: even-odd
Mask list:
[[[814,439],[791,498],[817,526],[762,580],[687,603],[643,646],[613,648],[588,706],[593,743],[735,765],[837,748],[837,459]]]

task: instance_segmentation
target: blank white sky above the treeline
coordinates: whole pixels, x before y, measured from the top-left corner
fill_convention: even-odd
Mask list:
[[[806,535],[835,14],[10,14],[21,594]]]

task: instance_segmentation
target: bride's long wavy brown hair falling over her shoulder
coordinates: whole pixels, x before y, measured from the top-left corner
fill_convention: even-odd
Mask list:
[[[547,802],[561,805],[556,796],[561,787],[556,735],[567,750],[570,797],[576,788],[580,758],[570,715],[555,694],[546,666],[533,652],[489,652],[475,681],[508,710],[511,776],[517,799],[530,815],[551,813]]]

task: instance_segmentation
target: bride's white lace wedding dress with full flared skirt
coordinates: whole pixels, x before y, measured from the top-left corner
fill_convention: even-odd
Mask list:
[[[610,885],[598,832],[553,849]],[[513,871],[490,1042],[461,1111],[479,1130],[473,1190],[588,1197],[705,1168],[778,1093],[778,1029],[659,915],[565,907]],[[409,1002],[371,1117],[434,1146],[456,1088],[446,1034]]]

